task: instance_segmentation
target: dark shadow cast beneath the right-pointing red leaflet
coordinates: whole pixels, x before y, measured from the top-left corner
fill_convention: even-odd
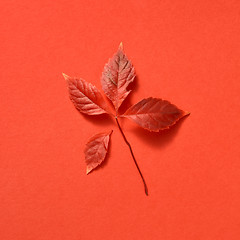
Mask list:
[[[136,134],[140,140],[155,148],[164,148],[174,140],[174,137],[179,132],[181,125],[187,116],[181,118],[175,125],[169,129],[160,132],[149,132],[148,130],[135,127],[132,132]]]

